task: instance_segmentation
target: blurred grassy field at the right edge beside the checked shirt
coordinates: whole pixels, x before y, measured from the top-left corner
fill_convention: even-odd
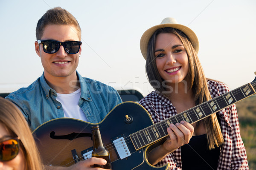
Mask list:
[[[249,169],[256,170],[256,96],[236,103],[236,108]]]

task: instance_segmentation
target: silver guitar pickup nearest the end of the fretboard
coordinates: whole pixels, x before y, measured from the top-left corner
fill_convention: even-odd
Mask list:
[[[120,159],[131,156],[130,150],[128,149],[125,139],[123,137],[113,140],[113,144],[116,147],[116,152],[118,153]]]

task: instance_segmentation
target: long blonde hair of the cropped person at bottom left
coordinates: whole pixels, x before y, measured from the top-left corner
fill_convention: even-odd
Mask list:
[[[20,149],[26,160],[26,170],[42,170],[35,140],[23,114],[12,102],[2,97],[0,97],[0,123],[11,136],[20,138]]]

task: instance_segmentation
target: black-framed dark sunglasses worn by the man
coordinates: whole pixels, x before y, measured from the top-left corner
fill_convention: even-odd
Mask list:
[[[81,41],[66,41],[66,42],[59,42],[54,40],[37,40],[38,44],[43,44],[44,52],[48,54],[56,53],[61,45],[63,45],[67,54],[76,54],[79,52],[80,46],[82,44]]]

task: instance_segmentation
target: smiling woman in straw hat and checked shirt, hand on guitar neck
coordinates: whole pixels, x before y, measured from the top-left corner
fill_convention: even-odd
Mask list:
[[[166,18],[145,31],[140,49],[155,91],[139,103],[154,123],[229,91],[224,83],[206,79],[197,56],[197,36],[174,18]],[[169,163],[175,170],[248,169],[236,105],[192,125],[185,121],[170,124],[167,132],[169,138],[151,150],[149,163]]]

